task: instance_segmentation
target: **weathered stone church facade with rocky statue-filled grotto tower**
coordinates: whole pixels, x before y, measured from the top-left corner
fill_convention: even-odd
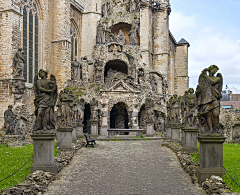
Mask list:
[[[166,100],[183,95],[189,83],[190,45],[174,39],[170,13],[169,0],[1,1],[0,125],[8,105],[34,113],[34,77],[45,69],[59,91],[68,87],[85,102],[85,132],[93,99],[101,135],[108,128],[145,128],[151,114],[155,131],[162,131]],[[15,76],[19,48],[23,78]]]

